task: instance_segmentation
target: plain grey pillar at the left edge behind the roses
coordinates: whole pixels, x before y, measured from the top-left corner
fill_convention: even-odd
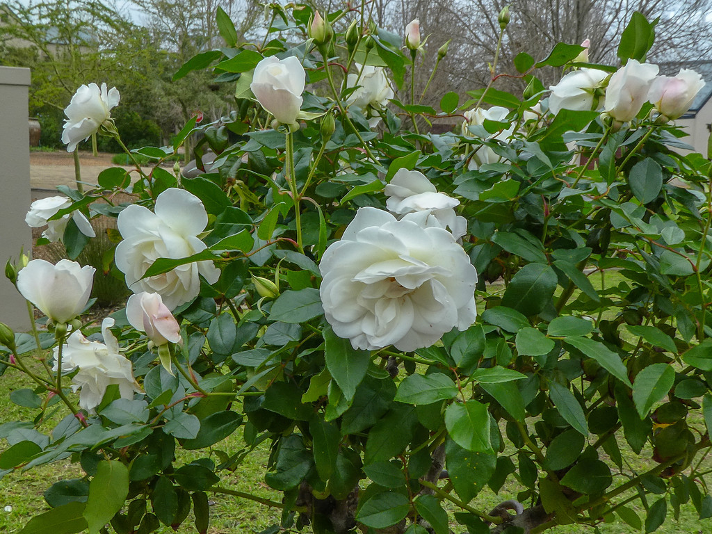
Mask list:
[[[0,321],[13,330],[31,328],[25,300],[5,278],[5,263],[28,255],[32,234],[25,224],[30,207],[30,140],[27,91],[30,69],[0,67]]]

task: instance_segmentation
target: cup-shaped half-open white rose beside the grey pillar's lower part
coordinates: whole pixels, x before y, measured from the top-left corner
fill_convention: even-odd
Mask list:
[[[17,289],[55,323],[66,323],[86,307],[95,271],[76,261],[32,260],[18,273]]]

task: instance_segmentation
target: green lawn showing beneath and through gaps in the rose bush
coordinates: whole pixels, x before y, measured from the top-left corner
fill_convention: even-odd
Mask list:
[[[618,273],[607,273],[605,278],[605,282],[608,287],[616,285],[623,280],[624,278]],[[592,276],[592,283],[594,283],[597,288],[600,288],[600,275]],[[492,288],[492,290],[497,290],[496,285]],[[0,384],[2,384],[2,387],[0,387],[0,413],[3,414],[0,422],[17,419],[32,420],[35,416],[34,410],[18,407],[9,400],[9,393],[14,389],[32,387],[29,380],[19,372],[9,369],[4,376],[0,377]],[[56,424],[56,422],[58,422],[63,415],[64,414],[61,411],[58,412],[53,419],[43,423],[40,430],[51,429],[53,424]],[[703,427],[703,423],[701,421],[698,423],[699,424],[697,426]],[[530,422],[530,424],[533,424],[533,422]],[[240,433],[241,429],[239,429],[233,436],[230,436],[228,439],[217,444],[216,449],[221,449],[229,454],[234,454],[236,451],[239,451],[242,444]],[[592,436],[592,439],[589,440],[590,443],[592,443],[594,439],[595,436]],[[642,454],[638,456],[627,448],[627,444],[625,443],[622,434],[618,438],[618,443],[622,448],[625,464],[628,464],[632,470],[642,472],[655,465],[654,461],[651,460],[651,451],[649,448],[644,449]],[[4,449],[5,446],[6,442],[4,442],[4,440],[0,441],[0,450]],[[513,454],[513,456],[516,456],[516,453],[517,451],[513,448],[506,451],[506,454]],[[189,461],[200,457],[199,454],[206,455],[211,454],[211,452],[179,450],[179,457],[176,465],[180,466],[183,462],[188,463]],[[251,456],[248,456],[246,461],[244,461],[244,464],[241,464],[241,466],[239,466],[239,468],[233,473],[226,473],[226,471],[222,471],[221,486],[236,491],[253,493],[256,496],[268,498],[273,501],[280,501],[281,494],[277,491],[271,490],[271,488],[268,488],[268,486],[266,486],[263,482],[267,455],[267,446],[263,444],[263,446],[256,449],[256,451],[253,451]],[[513,460],[516,464],[516,459],[513,458]],[[705,465],[708,468],[712,468],[712,461],[706,460],[703,466]],[[63,478],[80,477],[82,474],[83,472],[77,464],[72,464],[70,461],[61,461],[56,464],[33,468],[31,471],[18,471],[10,473],[2,478],[0,480],[0,533],[19,533],[29,518],[36,515],[36,513],[40,513],[48,509],[48,505],[42,496],[43,491],[45,491],[56,481]],[[614,480],[616,483],[622,483],[627,481],[627,478],[625,478],[622,473],[614,472]],[[522,489],[523,487],[518,484],[515,477],[510,476],[498,495],[495,495],[488,488],[486,488],[486,490],[474,499],[471,504],[480,510],[489,511],[493,508],[493,506],[496,506],[496,504],[501,501],[516,498],[517,494]],[[632,494],[633,493],[624,494],[618,499],[632,496]],[[224,494],[210,494],[209,498],[212,502],[210,508],[211,526],[209,532],[212,534],[258,533],[269,525],[277,523],[280,517],[280,511],[278,509],[267,508],[259,503],[249,501],[244,498],[226,496]],[[649,498],[649,503],[654,502],[656,498],[658,498],[658,496],[651,496]],[[619,502],[619,500],[616,502]],[[528,506],[530,503],[524,504],[525,506]],[[11,506],[11,511],[4,511],[6,506]],[[634,508],[639,517],[644,520],[645,511],[640,505],[640,501],[633,501],[633,503],[629,506]],[[446,509],[450,512],[457,511],[456,508],[450,503],[446,503]],[[456,525],[454,521],[451,526],[456,533],[465,531],[464,527]],[[598,529],[602,534],[627,534],[638,532],[637,530],[630,528],[621,520],[616,520],[614,523],[604,523],[602,525],[598,525]],[[305,533],[309,533],[310,531],[311,530],[309,528],[304,530]],[[682,506],[679,520],[674,520],[672,518],[672,511],[669,508],[668,520],[656,532],[664,534],[702,534],[710,533],[711,531],[712,519],[698,520],[695,509],[691,503],[688,503]],[[162,527],[157,532],[160,534],[169,534],[172,533],[173,530]],[[186,534],[196,532],[196,529],[192,524],[191,517],[183,523],[178,532]],[[553,532],[560,534],[593,533],[594,528],[586,525],[565,525],[556,528]]]

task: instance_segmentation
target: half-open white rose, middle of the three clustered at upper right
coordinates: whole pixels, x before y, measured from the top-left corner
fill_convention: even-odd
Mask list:
[[[631,59],[608,82],[604,110],[619,122],[633,120],[648,100],[658,66]]]

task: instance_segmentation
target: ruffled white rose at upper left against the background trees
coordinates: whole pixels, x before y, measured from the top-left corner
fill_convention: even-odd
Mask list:
[[[62,142],[67,144],[67,152],[73,152],[80,141],[88,140],[98,132],[101,125],[111,118],[111,109],[119,104],[119,98],[117,88],[107,90],[105,83],[101,84],[101,89],[95,83],[77,89],[64,110],[67,119]]]

